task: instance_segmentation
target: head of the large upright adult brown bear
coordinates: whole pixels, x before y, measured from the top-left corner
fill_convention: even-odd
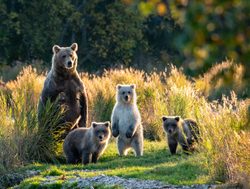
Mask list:
[[[77,67],[77,43],[73,43],[70,47],[53,46],[53,66],[57,69],[73,70]]]

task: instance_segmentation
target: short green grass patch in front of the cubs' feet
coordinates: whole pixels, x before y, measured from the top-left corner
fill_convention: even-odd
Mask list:
[[[119,157],[115,142],[111,142],[97,164],[84,165],[51,165],[32,164],[25,169],[40,170],[39,176],[24,180],[21,188],[36,188],[39,183],[46,181],[47,176],[54,176],[56,182],[49,188],[65,186],[67,180],[80,175],[93,177],[100,174],[120,176],[124,178],[138,178],[159,180],[166,184],[191,185],[209,183],[206,159],[202,153],[185,155],[179,149],[177,155],[170,155],[166,142],[145,141],[143,157],[134,157],[132,151],[126,157]],[[82,170],[89,170],[88,172]],[[93,171],[91,171],[93,170]],[[65,177],[65,180],[61,180]],[[44,185],[43,185],[44,186]],[[116,188],[116,186],[112,186]],[[98,187],[97,187],[98,188]]]

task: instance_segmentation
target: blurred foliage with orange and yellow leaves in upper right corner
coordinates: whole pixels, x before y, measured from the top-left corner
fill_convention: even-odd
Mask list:
[[[249,77],[250,3],[234,1],[178,1],[175,18],[183,28],[176,46],[191,70],[207,70],[225,58],[241,62]]]

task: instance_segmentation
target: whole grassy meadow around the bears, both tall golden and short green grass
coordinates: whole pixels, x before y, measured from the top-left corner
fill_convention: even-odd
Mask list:
[[[53,124],[38,128],[37,103],[46,73],[24,67],[0,91],[0,174],[40,170],[40,176],[21,183],[24,188],[39,186],[46,175],[71,177],[81,169],[97,170],[81,173],[83,176],[104,173],[178,185],[240,182],[248,187],[250,101],[238,99],[233,91],[218,100],[210,100],[224,90],[220,75],[227,70],[236,73],[232,85],[239,85],[241,67],[230,61],[215,65],[197,78],[188,78],[172,65],[164,72],[146,73],[126,68],[105,70],[98,75],[81,73],[89,99],[89,124],[110,120],[118,83],[136,84],[146,138],[145,156],[141,158],[132,155],[119,158],[112,139],[99,163],[83,167],[64,164],[61,143],[54,132],[60,112],[53,104],[47,105],[45,115]],[[170,155],[162,130],[163,115],[180,115],[198,122],[201,142],[197,152],[186,156],[179,150],[178,155]]]

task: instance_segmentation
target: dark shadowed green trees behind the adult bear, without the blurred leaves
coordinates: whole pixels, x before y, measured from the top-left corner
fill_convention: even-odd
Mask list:
[[[72,42],[80,47],[79,65],[88,70],[132,64],[143,67],[147,57],[161,64],[177,53],[168,40],[175,33],[173,19],[143,17],[119,0],[1,0],[0,4],[1,64],[27,60],[34,64],[32,60],[38,59],[49,65],[52,46]]]

